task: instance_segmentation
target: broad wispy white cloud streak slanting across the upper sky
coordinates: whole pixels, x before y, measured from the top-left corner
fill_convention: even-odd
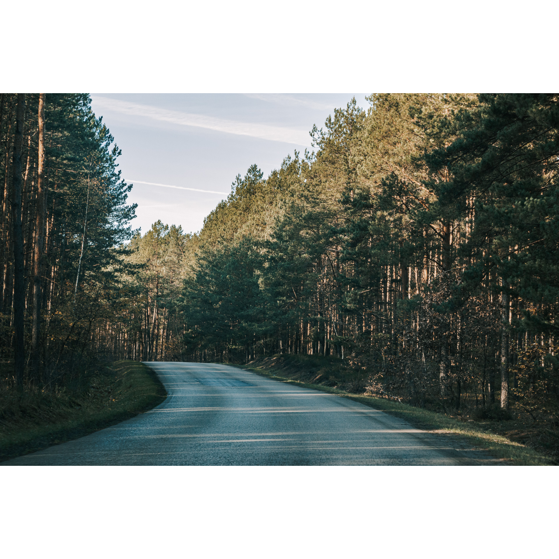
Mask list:
[[[169,111],[164,108],[140,105],[139,103],[98,95],[92,96],[92,100],[94,105],[96,105],[96,109],[115,111],[125,115],[139,116],[145,119],[170,122],[182,126],[196,126],[218,132],[226,132],[227,134],[252,136],[253,138],[263,140],[281,141],[286,144],[310,146],[309,132],[305,130],[260,124],[259,122],[238,122],[181,111]]]

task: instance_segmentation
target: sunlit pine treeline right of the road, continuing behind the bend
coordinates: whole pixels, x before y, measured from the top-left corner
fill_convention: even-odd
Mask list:
[[[120,355],[338,356],[373,394],[555,421],[558,97],[368,101],[237,177],[199,234],[134,239],[149,273]]]

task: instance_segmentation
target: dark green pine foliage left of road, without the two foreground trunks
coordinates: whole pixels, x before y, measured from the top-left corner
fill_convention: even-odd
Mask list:
[[[6,165],[0,262],[6,282],[2,290],[2,357],[12,357],[13,238],[12,212],[6,211],[11,197],[8,157],[13,144],[15,96],[0,99],[0,136]],[[47,94],[45,103],[45,243],[39,250],[42,319],[40,321],[39,375],[27,375],[41,390],[66,385],[72,390],[88,386],[100,356],[97,334],[111,323],[119,301],[119,282],[127,268],[122,243],[132,234],[129,222],[135,205],[127,205],[126,184],[117,170],[120,149],[91,110],[88,94]],[[34,258],[37,231],[39,96],[27,96],[23,130],[23,252],[26,277],[26,342],[30,342],[34,309]],[[3,159],[4,160],[4,159]],[[96,347],[97,346],[97,347]],[[26,362],[29,350],[26,348]],[[103,352],[104,353],[104,352]],[[4,369],[9,369],[9,366]],[[7,371],[6,371],[7,372]],[[9,378],[9,377],[8,377]]]

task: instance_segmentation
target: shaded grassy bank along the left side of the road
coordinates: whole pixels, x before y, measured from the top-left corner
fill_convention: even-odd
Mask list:
[[[159,405],[167,396],[142,363],[117,361],[79,396],[62,392],[0,402],[0,462],[83,437]]]

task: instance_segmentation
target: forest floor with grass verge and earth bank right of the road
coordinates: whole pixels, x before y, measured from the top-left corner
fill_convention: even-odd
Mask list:
[[[428,432],[467,439],[468,444],[483,448],[506,463],[518,466],[557,465],[557,435],[546,425],[538,425],[522,414],[514,419],[475,419],[471,408],[456,414],[445,414],[365,395],[363,373],[346,366],[339,358],[281,355],[255,359],[240,366],[282,382],[293,382],[314,390],[338,394],[361,402]],[[514,411],[514,410],[513,410]]]

